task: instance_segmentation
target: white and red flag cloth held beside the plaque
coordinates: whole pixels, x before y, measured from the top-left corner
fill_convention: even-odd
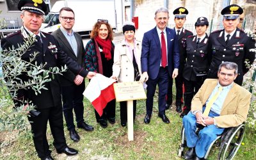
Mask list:
[[[84,90],[84,97],[90,100],[100,116],[102,116],[103,109],[108,102],[115,99],[113,83],[115,83],[114,79],[96,74]]]

